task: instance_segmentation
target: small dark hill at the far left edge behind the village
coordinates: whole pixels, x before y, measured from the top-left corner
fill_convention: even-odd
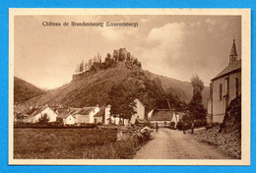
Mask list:
[[[33,86],[32,84],[14,77],[14,102],[23,103],[35,96],[45,93],[44,90]]]

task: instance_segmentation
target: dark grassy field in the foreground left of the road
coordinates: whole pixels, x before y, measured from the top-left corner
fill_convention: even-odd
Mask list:
[[[116,141],[113,129],[14,129],[14,158],[131,158],[137,141]]]

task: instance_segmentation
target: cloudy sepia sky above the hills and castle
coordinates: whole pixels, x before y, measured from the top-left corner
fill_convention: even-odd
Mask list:
[[[64,27],[65,22],[125,22],[138,27]],[[78,63],[125,47],[144,70],[188,82],[198,75],[209,86],[228,65],[233,39],[240,59],[239,16],[16,16],[14,71],[36,87],[61,87],[71,82]]]

